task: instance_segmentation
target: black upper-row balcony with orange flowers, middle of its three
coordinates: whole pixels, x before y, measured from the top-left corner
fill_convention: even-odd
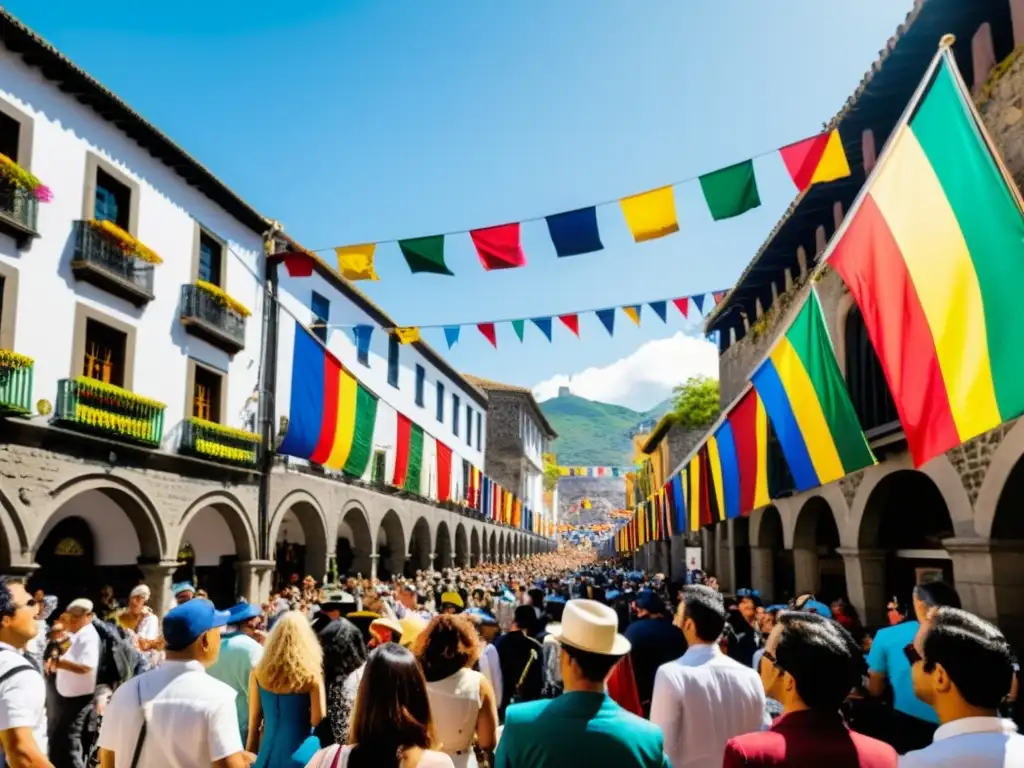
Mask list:
[[[152,252],[145,249],[143,253],[148,255]],[[159,260],[140,256],[138,248],[131,242],[103,231],[96,223],[75,222],[75,255],[71,269],[77,280],[92,283],[135,306],[144,306],[154,299],[153,272],[156,263]]]

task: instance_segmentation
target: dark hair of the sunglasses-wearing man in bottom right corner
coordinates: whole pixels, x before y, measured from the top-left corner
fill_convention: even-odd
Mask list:
[[[942,665],[972,707],[995,710],[1010,692],[1014,676],[1010,644],[983,618],[942,606],[932,616],[923,648],[925,670]]]

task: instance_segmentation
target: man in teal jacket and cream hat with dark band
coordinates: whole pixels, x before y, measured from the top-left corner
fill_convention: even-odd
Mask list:
[[[671,768],[660,729],[608,696],[605,681],[630,650],[615,611],[569,600],[551,634],[561,645],[565,692],[509,707],[495,768]]]

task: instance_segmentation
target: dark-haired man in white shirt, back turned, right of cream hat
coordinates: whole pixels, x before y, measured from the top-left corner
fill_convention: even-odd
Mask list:
[[[725,620],[718,592],[683,589],[676,626],[689,648],[658,668],[650,706],[673,768],[721,768],[730,738],[767,725],[761,678],[718,646]]]

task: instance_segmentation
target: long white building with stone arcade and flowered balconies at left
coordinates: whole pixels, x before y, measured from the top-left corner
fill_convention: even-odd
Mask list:
[[[162,607],[175,577],[198,579],[221,601],[264,597],[285,565],[323,578],[339,542],[345,570],[364,574],[382,553],[396,572],[549,546],[429,495],[280,461],[261,514],[273,222],[2,10],[0,43],[0,570],[33,573],[62,598],[105,583],[124,594],[144,579]],[[26,174],[52,200],[32,194]],[[340,280],[316,280],[283,286],[280,314],[310,322],[305,299],[319,288],[338,322],[389,323]],[[411,418],[422,410],[431,434],[482,464],[482,392],[424,345],[400,350],[387,391],[387,350],[372,348],[360,371],[344,338],[331,348],[360,380]],[[421,367],[435,392],[461,399],[462,430],[417,403]],[[265,399],[287,416],[287,371],[276,378],[284,388]],[[386,460],[384,437],[380,449]]]

